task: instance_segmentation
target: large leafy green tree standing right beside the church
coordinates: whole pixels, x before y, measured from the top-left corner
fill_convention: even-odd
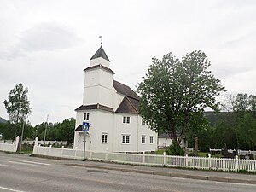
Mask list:
[[[173,143],[180,143],[188,129],[200,126],[205,108],[218,111],[216,97],[224,86],[207,67],[210,61],[201,51],[193,51],[182,60],[172,53],[161,61],[152,59],[146,77],[137,86],[140,113],[152,130],[162,129]]]

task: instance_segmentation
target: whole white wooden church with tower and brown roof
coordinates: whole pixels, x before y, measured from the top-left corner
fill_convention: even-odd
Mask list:
[[[108,152],[143,152],[157,149],[157,134],[139,114],[139,96],[113,80],[114,72],[102,46],[84,69],[83,105],[77,112],[74,148]],[[83,122],[90,123],[88,132]]]

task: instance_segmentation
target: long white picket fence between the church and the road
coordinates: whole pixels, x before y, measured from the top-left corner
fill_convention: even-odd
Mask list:
[[[83,150],[75,150],[69,148],[34,146],[33,154],[73,160],[84,159]],[[186,156],[169,156],[165,154],[127,154],[108,153],[108,151],[86,151],[85,157],[89,160],[102,160],[148,166],[172,166],[223,171],[246,170],[248,172],[256,172],[256,160],[239,160],[237,156],[236,159],[221,159],[212,158],[211,155],[209,155],[209,157],[189,157],[187,154]]]

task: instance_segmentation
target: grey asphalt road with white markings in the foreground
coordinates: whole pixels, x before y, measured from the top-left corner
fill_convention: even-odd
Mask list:
[[[255,192],[256,185],[67,166],[67,161],[64,160],[0,152],[0,191]]]

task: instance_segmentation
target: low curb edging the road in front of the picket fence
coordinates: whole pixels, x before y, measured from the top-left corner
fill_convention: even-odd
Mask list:
[[[114,170],[114,171],[119,171],[119,172],[136,172],[136,173],[142,173],[142,174],[148,174],[148,175],[159,175],[159,176],[166,176],[166,177],[181,177],[181,178],[190,178],[190,179],[197,179],[197,180],[208,180],[208,181],[225,182],[225,183],[256,184],[256,180],[252,180],[252,179],[200,176],[200,175],[183,174],[183,173],[178,173],[178,172],[154,172],[154,171],[139,170],[139,169],[127,169],[127,168],[107,167],[107,166],[91,166],[91,165],[82,165],[82,164],[64,164],[64,165],[65,166],[82,166],[82,167],[87,167],[87,168]]]

